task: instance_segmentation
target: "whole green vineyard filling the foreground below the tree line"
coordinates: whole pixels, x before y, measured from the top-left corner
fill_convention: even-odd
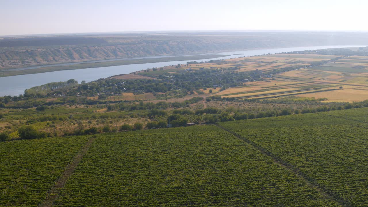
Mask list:
[[[359,108],[99,134],[54,205],[367,206],[367,117]],[[90,138],[0,143],[0,205],[52,196]]]

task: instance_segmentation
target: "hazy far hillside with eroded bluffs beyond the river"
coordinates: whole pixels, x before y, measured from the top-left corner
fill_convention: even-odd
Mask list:
[[[139,56],[367,43],[365,33],[327,32],[181,32],[7,37],[0,39],[0,69]]]

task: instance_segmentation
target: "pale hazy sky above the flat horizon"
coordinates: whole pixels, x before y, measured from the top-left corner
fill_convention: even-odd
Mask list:
[[[0,0],[0,35],[160,30],[368,31],[363,0]]]

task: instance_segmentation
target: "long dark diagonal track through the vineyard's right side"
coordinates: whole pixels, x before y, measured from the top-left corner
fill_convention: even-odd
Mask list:
[[[268,157],[270,157],[273,160],[273,162],[275,162],[276,164],[279,164],[280,166],[288,169],[290,172],[295,174],[299,179],[304,180],[306,185],[316,189],[323,196],[324,199],[330,200],[330,201],[335,201],[339,206],[350,206],[350,203],[347,200],[335,200],[335,199],[333,199],[332,194],[330,194],[328,191],[324,190],[323,187],[316,184],[314,182],[314,180],[308,179],[306,177],[306,175],[304,175],[304,173],[302,173],[296,166],[291,165],[290,163],[284,162],[281,158],[277,157],[276,155],[273,155],[271,152],[265,151],[262,147],[258,146],[257,144],[255,144],[251,140],[248,140],[247,138],[244,138],[241,135],[239,135],[239,134],[237,134],[237,133],[235,133],[231,130],[228,130],[228,129],[220,126],[220,125],[216,124],[216,126],[219,127],[220,129],[223,129],[223,130],[229,132],[230,134],[233,134],[238,139],[240,139],[242,141],[245,141],[246,143],[252,145],[256,149],[258,149],[262,154],[267,155]]]

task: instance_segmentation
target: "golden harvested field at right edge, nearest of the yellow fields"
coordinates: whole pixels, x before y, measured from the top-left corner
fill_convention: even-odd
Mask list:
[[[328,102],[353,102],[368,99],[368,91],[355,89],[341,89],[335,91],[324,91],[311,94],[300,94],[298,97],[327,98]]]

